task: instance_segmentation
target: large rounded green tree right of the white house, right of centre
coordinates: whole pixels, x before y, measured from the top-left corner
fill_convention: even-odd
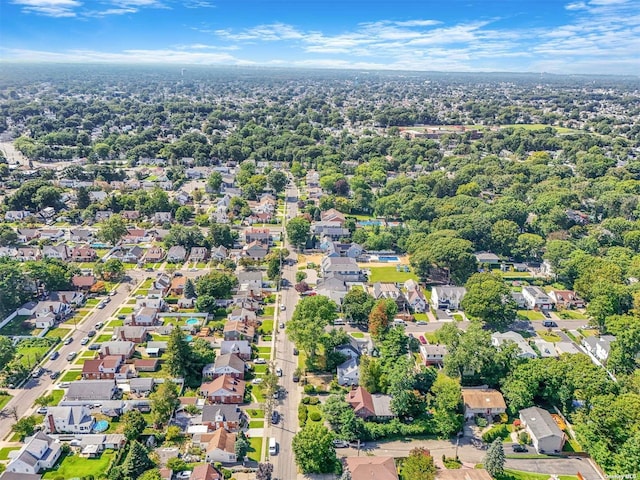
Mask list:
[[[469,278],[466,287],[462,308],[469,317],[483,320],[493,328],[505,328],[513,322],[516,305],[509,287],[499,275],[476,273]]]

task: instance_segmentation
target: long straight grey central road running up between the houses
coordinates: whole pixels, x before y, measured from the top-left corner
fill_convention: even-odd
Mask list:
[[[292,201],[287,202],[285,215],[287,218],[293,218],[297,215],[298,193],[295,187],[287,189],[287,197]],[[286,222],[286,220],[285,220]],[[295,260],[297,255],[293,253],[293,247],[285,243],[289,252],[290,259]],[[293,288],[295,284],[297,266],[284,266],[282,278],[289,281],[289,286],[280,291],[279,304],[285,306],[285,310],[279,311],[278,324],[283,322],[285,325],[291,318],[296,304],[299,300],[298,292]],[[274,437],[279,445],[278,454],[271,457],[274,464],[274,478],[293,479],[297,477],[297,468],[291,449],[293,436],[298,431],[298,404],[301,400],[301,392],[298,383],[293,381],[293,373],[298,366],[298,357],[293,355],[293,343],[286,335],[286,327],[284,330],[278,327],[276,338],[276,366],[282,368],[282,377],[280,379],[280,388],[285,392],[284,397],[278,400],[276,410],[281,414],[281,420],[277,425],[271,425],[267,428],[267,434]]]

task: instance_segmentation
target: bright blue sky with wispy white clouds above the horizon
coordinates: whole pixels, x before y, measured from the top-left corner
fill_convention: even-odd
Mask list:
[[[3,61],[640,74],[640,0],[0,0]]]

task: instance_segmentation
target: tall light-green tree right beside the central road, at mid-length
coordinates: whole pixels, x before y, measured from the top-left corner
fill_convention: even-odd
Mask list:
[[[291,320],[287,323],[289,338],[303,348],[313,362],[324,327],[337,317],[337,305],[327,297],[316,295],[304,297],[296,305]]]

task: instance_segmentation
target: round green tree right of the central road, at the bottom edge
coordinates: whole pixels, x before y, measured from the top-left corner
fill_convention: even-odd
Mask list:
[[[309,422],[291,442],[296,464],[302,473],[332,473],[336,469],[333,435],[324,425]]]

